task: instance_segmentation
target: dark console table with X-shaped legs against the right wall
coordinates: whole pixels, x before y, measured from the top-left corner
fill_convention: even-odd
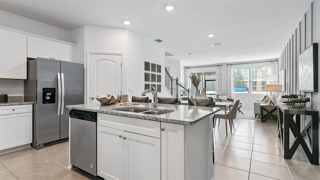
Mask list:
[[[312,108],[299,108],[291,107],[288,108],[285,103],[278,103],[278,135],[281,137],[283,145],[283,157],[286,159],[291,159],[295,150],[301,144],[306,156],[308,157],[310,163],[319,164],[318,154],[319,154],[319,144],[318,144],[318,111]],[[295,122],[293,116],[295,115]],[[302,132],[300,131],[300,116],[301,115],[311,115],[310,123],[308,123]],[[283,125],[282,125],[283,124]],[[289,130],[291,129],[295,140],[291,147],[289,147]],[[311,130],[312,135],[310,136],[309,130]],[[303,135],[305,132],[308,133],[308,139],[311,144],[311,150],[308,148]]]

